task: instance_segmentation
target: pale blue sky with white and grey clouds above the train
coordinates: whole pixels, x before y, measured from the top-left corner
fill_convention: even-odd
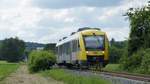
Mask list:
[[[0,40],[56,43],[82,27],[105,31],[109,40],[128,39],[131,7],[148,0],[0,0]]]

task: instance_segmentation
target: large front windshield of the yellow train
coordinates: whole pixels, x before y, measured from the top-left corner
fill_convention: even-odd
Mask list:
[[[104,50],[104,36],[84,36],[87,51]]]

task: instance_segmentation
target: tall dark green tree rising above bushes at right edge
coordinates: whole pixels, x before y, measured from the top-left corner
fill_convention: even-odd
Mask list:
[[[128,52],[131,56],[140,48],[150,48],[150,6],[130,8],[127,12],[130,21]]]

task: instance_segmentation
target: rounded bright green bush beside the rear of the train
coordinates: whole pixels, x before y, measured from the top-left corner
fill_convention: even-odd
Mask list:
[[[37,72],[50,69],[55,63],[55,55],[50,51],[32,51],[29,55],[29,71]]]

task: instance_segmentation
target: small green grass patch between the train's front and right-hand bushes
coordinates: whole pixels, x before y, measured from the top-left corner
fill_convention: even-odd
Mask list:
[[[103,70],[106,70],[106,71],[121,71],[120,64],[108,64]]]

